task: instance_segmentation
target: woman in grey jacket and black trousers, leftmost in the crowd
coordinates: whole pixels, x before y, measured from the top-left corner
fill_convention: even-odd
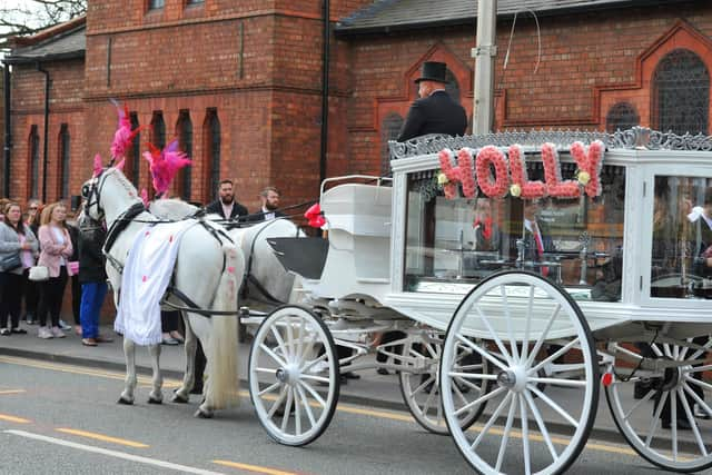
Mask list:
[[[38,243],[34,234],[22,222],[20,205],[8,204],[4,207],[4,221],[0,222],[0,263],[6,263],[8,258],[17,259],[14,264],[0,267],[0,335],[10,336],[27,333],[20,328],[24,287],[22,274],[34,264],[32,256],[37,251]]]

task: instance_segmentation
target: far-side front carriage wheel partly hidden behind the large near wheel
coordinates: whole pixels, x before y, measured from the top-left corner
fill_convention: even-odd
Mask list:
[[[415,358],[416,362],[404,359],[403,365],[417,366],[419,370],[400,372],[400,394],[415,420],[426,431],[434,434],[449,434],[443,405],[441,404],[441,382],[438,377],[439,360],[443,353],[443,334],[429,333],[424,339],[408,338],[404,344],[403,355],[406,358]],[[487,372],[487,362],[472,349],[458,346],[456,368],[459,373],[484,374]],[[487,390],[486,380],[466,380],[458,378],[455,390],[457,408],[468,403],[465,395],[479,397]],[[469,396],[472,398],[472,396]],[[472,406],[458,414],[459,426],[469,427],[485,408],[486,402]]]

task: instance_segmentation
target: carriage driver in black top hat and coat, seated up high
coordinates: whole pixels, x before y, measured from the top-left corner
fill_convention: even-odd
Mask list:
[[[447,65],[426,61],[423,63],[417,99],[411,106],[398,141],[406,141],[427,133],[462,136],[467,128],[465,109],[445,92]]]

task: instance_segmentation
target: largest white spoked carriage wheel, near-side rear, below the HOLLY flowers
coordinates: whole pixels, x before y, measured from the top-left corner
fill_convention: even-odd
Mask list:
[[[459,346],[478,353],[490,372],[461,373]],[[599,404],[597,373],[591,330],[564,289],[532,273],[495,274],[463,299],[445,334],[445,419],[457,448],[479,473],[560,474],[589,438]],[[459,379],[492,386],[459,406]],[[459,414],[484,402],[494,407],[484,425],[462,429]]]

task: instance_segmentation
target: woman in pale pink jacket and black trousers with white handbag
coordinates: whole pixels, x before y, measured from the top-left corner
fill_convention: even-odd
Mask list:
[[[40,258],[38,266],[49,269],[49,280],[40,283],[40,303],[38,307],[40,338],[63,338],[59,328],[59,313],[62,308],[62,297],[67,278],[71,276],[68,266],[72,254],[71,239],[67,229],[67,208],[62,202],[55,202],[42,210],[39,230]],[[47,314],[51,317],[51,327],[47,325]]]

